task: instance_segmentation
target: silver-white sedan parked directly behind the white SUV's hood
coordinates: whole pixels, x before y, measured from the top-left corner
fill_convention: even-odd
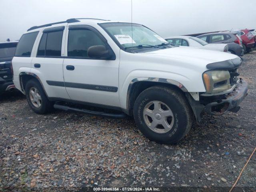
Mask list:
[[[172,36],[172,37],[166,38],[165,40],[171,44],[178,45],[178,46],[190,46],[190,47],[198,47],[198,48],[228,52],[228,44],[224,44],[224,43],[209,44],[200,38],[192,37],[192,36]]]

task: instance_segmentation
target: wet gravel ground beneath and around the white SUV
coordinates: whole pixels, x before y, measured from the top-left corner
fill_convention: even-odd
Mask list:
[[[249,90],[241,110],[204,116],[171,146],[144,138],[131,118],[58,110],[38,115],[22,94],[5,94],[0,99],[0,191],[91,186],[228,190],[256,145],[256,51],[243,59],[239,72]],[[256,154],[237,186],[256,188]]]

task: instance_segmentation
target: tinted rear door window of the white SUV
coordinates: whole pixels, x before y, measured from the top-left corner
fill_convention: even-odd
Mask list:
[[[63,30],[43,33],[37,56],[61,56]]]

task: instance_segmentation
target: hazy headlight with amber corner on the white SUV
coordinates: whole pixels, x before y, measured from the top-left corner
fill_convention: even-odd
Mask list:
[[[230,74],[228,71],[206,71],[203,73],[206,93],[218,93],[230,88]]]

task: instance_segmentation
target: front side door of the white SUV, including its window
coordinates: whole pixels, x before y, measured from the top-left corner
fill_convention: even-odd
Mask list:
[[[63,72],[70,98],[88,104],[120,106],[119,57],[114,60],[93,59],[87,54],[90,46],[103,45],[111,49],[104,37],[91,26],[70,26],[66,36]]]

